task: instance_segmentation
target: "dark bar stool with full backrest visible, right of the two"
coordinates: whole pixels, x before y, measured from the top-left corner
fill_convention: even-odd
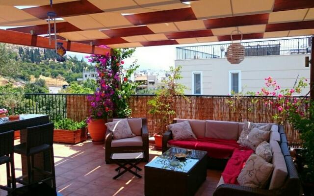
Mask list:
[[[52,188],[55,189],[55,172],[53,160],[53,123],[26,128],[26,141],[14,147],[14,152],[25,155],[27,159],[27,181],[17,178],[16,181],[31,185],[40,181],[52,180]],[[51,171],[36,168],[34,165],[34,155],[40,152],[50,152]],[[34,181],[34,171],[45,176],[44,179]],[[22,176],[25,177],[25,176]]]

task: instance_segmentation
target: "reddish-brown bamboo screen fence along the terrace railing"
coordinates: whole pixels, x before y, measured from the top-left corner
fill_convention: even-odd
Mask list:
[[[157,132],[157,119],[149,113],[151,109],[147,101],[154,96],[132,96],[129,100],[132,109],[132,118],[147,118],[147,125],[150,134]],[[276,123],[272,118],[277,110],[264,104],[263,101],[253,102],[252,97],[241,97],[239,99],[229,96],[188,96],[177,97],[174,102],[175,118],[199,119],[216,121],[235,121],[244,120],[255,123]],[[233,110],[228,101],[233,100],[235,104],[241,105],[237,110]],[[86,119],[89,115],[89,103],[86,96],[67,96],[67,117],[76,121]],[[299,146],[302,141],[299,134],[289,123],[283,124],[290,146]]]

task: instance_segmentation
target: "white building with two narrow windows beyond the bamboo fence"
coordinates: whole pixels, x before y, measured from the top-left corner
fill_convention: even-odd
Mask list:
[[[224,57],[178,59],[175,66],[182,66],[183,76],[178,82],[189,88],[185,94],[230,95],[232,91],[259,92],[266,87],[264,78],[269,76],[277,80],[282,89],[292,88],[297,77],[310,81],[310,68],[304,63],[305,57],[310,56],[309,51],[289,51],[288,55],[245,56],[239,65],[230,64]],[[306,88],[302,94],[309,90]]]

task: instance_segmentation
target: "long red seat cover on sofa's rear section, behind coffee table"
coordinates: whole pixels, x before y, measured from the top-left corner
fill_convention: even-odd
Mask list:
[[[239,144],[236,143],[236,140],[214,138],[170,140],[168,144],[176,147],[204,150],[207,151],[207,155],[209,157],[217,159],[228,158],[232,155],[236,148],[239,148]]]

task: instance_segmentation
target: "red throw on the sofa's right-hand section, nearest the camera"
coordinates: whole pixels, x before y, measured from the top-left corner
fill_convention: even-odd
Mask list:
[[[225,170],[221,173],[225,184],[237,184],[236,178],[239,176],[241,170],[247,159],[254,151],[252,149],[235,149],[232,157],[229,159]]]

